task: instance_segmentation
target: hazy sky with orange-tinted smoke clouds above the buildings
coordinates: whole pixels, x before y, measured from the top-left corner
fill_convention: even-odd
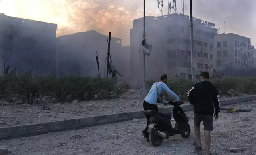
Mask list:
[[[172,1],[172,0],[171,0]],[[163,0],[167,14],[168,0]],[[181,0],[177,0],[181,12]],[[256,45],[256,0],[193,0],[193,16],[215,23],[226,33],[233,32],[252,39]],[[160,15],[157,0],[146,0],[146,15]],[[57,35],[97,30],[112,32],[129,45],[132,20],[143,15],[143,0],[1,0],[0,12],[6,15],[57,23]],[[185,14],[189,15],[189,0]]]

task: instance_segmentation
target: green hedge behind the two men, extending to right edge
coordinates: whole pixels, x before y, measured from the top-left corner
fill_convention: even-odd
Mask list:
[[[147,89],[149,90],[151,85],[155,82],[157,82],[157,80],[148,80]],[[219,90],[219,95],[221,96],[239,96],[243,93],[256,93],[256,78],[221,77],[219,79],[211,79],[211,82]],[[188,90],[190,90],[194,85],[192,81],[185,79],[169,79],[166,84],[182,99],[186,98]],[[167,100],[173,100],[169,95],[167,95],[167,93],[164,93],[164,95],[167,97]]]

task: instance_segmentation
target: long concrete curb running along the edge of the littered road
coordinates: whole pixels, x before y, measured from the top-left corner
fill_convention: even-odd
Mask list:
[[[236,104],[238,102],[248,102],[256,100],[256,96],[234,98],[228,100],[221,100],[221,105],[226,106],[230,104]],[[161,112],[172,112],[172,106],[166,108],[159,108]],[[184,111],[193,110],[192,104],[182,105]],[[79,119],[68,119],[63,121],[39,123],[32,125],[20,125],[13,127],[1,127],[0,128],[0,140],[8,140],[13,138],[20,138],[26,136],[35,136],[39,134],[46,134],[48,132],[60,132],[65,130],[78,129],[81,127],[91,127],[95,125],[103,125],[109,123],[116,123],[121,121],[128,121],[131,119],[144,118],[144,111],[116,113],[111,115],[102,115],[95,117],[85,117]]]

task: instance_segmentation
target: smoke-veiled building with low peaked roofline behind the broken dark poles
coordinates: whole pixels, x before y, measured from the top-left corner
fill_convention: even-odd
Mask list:
[[[58,72],[63,74],[77,74],[84,76],[98,75],[96,51],[98,52],[100,76],[106,75],[107,48],[109,36],[95,30],[78,32],[57,38]],[[111,37],[110,55],[116,70],[122,74],[129,67],[129,47],[122,47],[121,39]],[[114,68],[113,68],[114,69]]]

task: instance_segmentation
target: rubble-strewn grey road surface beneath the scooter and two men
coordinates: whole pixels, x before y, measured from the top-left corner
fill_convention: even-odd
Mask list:
[[[221,111],[219,119],[213,121],[211,152],[213,155],[256,155],[256,102],[228,107],[252,109],[252,112]],[[196,155],[193,112],[187,115],[192,127],[190,137],[183,139],[176,135],[164,140],[159,147],[150,146],[141,134],[146,119],[7,140],[0,142],[0,147],[7,147],[14,155]],[[203,135],[201,139],[204,147]],[[231,147],[249,149],[236,153],[225,151]]]

